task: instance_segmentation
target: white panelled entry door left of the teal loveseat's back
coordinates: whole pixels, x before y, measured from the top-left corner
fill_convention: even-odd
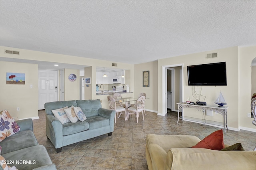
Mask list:
[[[38,69],[38,110],[44,103],[58,100],[58,71]]]

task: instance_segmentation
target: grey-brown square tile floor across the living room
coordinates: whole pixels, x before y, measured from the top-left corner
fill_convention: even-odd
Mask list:
[[[33,120],[34,133],[39,144],[48,150],[52,162],[58,170],[147,170],[145,138],[147,134],[186,134],[203,139],[220,128],[202,126],[198,123],[180,121],[177,113],[168,112],[166,116],[146,111],[139,123],[131,115],[124,121],[124,115],[117,119],[112,136],[107,134],[71,144],[56,153],[54,146],[45,134],[45,112],[38,111],[40,119]],[[256,145],[256,132],[228,130],[224,134],[225,144],[242,143],[245,150],[253,150]]]

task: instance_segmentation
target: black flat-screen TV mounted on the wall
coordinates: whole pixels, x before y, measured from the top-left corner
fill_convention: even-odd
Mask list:
[[[188,85],[227,85],[226,62],[190,65]]]

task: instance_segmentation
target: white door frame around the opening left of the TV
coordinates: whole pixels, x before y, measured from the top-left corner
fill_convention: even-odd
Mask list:
[[[182,93],[182,101],[183,101],[183,63],[181,64],[174,64],[174,65],[163,65],[162,66],[162,116],[165,116],[166,113],[167,113],[167,87],[166,87],[166,84],[167,84],[167,68],[168,67],[178,67],[178,66],[181,66],[181,83],[182,83],[182,88],[180,89],[181,90],[181,93]],[[172,95],[174,96],[174,94]],[[172,97],[173,98],[173,97]],[[175,101],[172,99],[172,103],[174,102],[174,105],[175,106]]]

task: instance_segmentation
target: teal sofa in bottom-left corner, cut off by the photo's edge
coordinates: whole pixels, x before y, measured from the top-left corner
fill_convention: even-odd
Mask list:
[[[1,156],[18,170],[56,170],[46,148],[39,145],[33,132],[32,119],[16,121],[20,131],[0,142]],[[0,170],[3,167],[0,166]]]

